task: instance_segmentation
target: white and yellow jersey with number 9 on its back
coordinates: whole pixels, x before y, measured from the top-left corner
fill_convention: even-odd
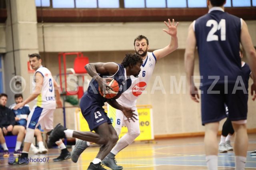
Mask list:
[[[44,108],[44,109],[56,109],[56,101],[55,101],[55,92],[54,92],[54,84],[53,84],[53,77],[50,70],[46,67],[39,67],[36,72],[34,73],[34,80],[33,80],[33,91],[36,88],[36,73],[39,72],[44,77],[42,91],[40,95],[34,99],[36,106]]]

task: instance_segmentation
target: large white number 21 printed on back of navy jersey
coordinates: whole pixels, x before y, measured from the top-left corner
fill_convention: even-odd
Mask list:
[[[214,35],[218,30],[220,30],[220,40],[226,41],[226,20],[221,19],[219,24],[215,20],[208,20],[206,22],[207,27],[211,27],[212,25],[213,25],[213,27],[210,30],[210,32],[208,33],[206,41],[207,42],[218,41],[219,40],[218,36]]]

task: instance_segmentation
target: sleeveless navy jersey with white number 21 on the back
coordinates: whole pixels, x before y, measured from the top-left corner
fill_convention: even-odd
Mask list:
[[[239,56],[242,19],[228,14],[220,7],[194,22],[196,45],[199,54],[199,69],[202,86],[214,81],[208,76],[219,76],[218,83],[235,83],[242,75]]]

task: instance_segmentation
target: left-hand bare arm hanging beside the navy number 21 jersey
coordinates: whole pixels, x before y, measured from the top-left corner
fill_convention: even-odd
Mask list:
[[[188,28],[188,38],[187,38],[186,49],[185,49],[185,71],[186,71],[187,83],[190,90],[191,99],[195,102],[199,102],[198,101],[199,95],[197,92],[197,88],[194,85],[194,79],[192,79],[192,76],[194,75],[195,49],[196,49],[196,36],[193,30],[193,23],[192,23]]]

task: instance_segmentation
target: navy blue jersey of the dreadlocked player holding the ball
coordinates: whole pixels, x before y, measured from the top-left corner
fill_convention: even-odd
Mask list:
[[[132,84],[132,80],[130,78],[127,79],[127,77],[126,77],[125,68],[120,64],[118,64],[118,71],[116,72],[115,75],[109,76],[109,75],[100,74],[100,77],[115,79],[119,85],[118,94],[126,91]],[[95,79],[92,79],[89,83],[88,90],[85,93],[87,95],[90,95],[90,97],[92,98],[92,100],[90,100],[90,101],[94,102],[94,103],[90,103],[90,105],[103,106],[104,103],[107,101],[106,98],[104,98],[104,97],[102,97],[102,95],[100,95],[98,87],[99,87],[98,82]]]

